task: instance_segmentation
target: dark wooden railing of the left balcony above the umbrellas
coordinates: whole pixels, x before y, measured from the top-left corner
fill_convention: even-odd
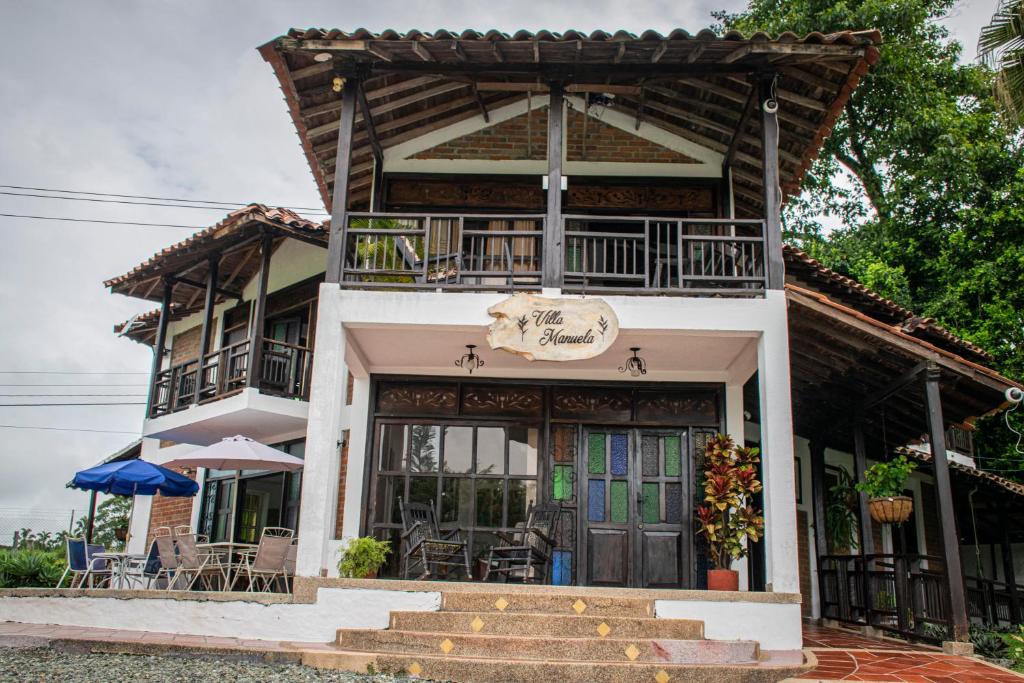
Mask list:
[[[272,339],[264,339],[262,344],[261,369],[253,378],[254,388],[286,398],[308,398],[312,367],[309,348]],[[206,353],[202,365],[191,359],[158,373],[153,381],[150,417],[176,413],[197,402],[218,400],[241,391],[249,381],[251,345],[251,340],[244,339]]]

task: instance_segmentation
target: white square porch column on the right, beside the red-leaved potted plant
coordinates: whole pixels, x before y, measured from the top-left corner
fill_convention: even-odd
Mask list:
[[[769,591],[800,592],[797,490],[794,477],[790,338],[785,293],[770,290],[772,315],[758,341],[761,451],[765,502],[765,564]]]

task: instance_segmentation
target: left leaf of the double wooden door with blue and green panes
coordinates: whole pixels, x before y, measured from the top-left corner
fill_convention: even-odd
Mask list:
[[[633,430],[584,431],[580,467],[588,586],[631,586],[636,526]]]

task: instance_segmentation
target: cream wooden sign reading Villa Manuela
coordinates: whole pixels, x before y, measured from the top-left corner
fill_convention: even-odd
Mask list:
[[[548,299],[516,294],[487,309],[490,348],[527,360],[584,360],[604,353],[618,336],[618,318],[603,299]]]

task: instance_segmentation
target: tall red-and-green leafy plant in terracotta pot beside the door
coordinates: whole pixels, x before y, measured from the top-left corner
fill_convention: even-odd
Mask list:
[[[756,542],[764,529],[764,517],[753,506],[753,496],[761,490],[757,479],[760,452],[741,449],[731,437],[718,434],[708,442],[705,470],[705,503],[697,508],[698,532],[708,539],[714,569],[708,570],[708,589],[739,589],[739,572],[733,560],[746,555],[743,541]]]

